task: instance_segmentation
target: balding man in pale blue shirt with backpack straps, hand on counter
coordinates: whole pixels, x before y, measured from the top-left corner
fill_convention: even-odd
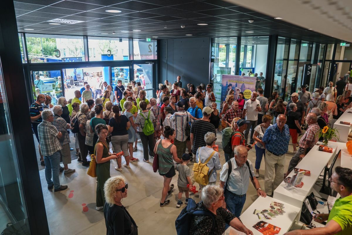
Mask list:
[[[266,197],[266,193],[260,188],[259,181],[253,177],[253,165],[247,159],[248,151],[243,145],[234,148],[234,157],[228,160],[220,172],[220,186],[225,188],[226,208],[236,217],[241,215],[246,193],[251,179],[258,196]]]

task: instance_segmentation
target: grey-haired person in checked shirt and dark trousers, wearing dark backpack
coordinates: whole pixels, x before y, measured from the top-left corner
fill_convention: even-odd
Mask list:
[[[99,98],[101,99],[101,98]],[[80,156],[78,162],[82,162],[82,166],[89,166],[90,161],[87,161],[88,146],[86,145],[86,122],[88,120],[89,106],[87,103],[80,105],[80,111],[76,114],[79,123],[80,131],[77,133],[78,145],[80,146]]]

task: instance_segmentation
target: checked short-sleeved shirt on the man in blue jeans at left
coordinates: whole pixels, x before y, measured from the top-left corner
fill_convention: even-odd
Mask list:
[[[46,120],[38,125],[40,150],[44,156],[51,156],[62,149],[58,134],[56,127]]]

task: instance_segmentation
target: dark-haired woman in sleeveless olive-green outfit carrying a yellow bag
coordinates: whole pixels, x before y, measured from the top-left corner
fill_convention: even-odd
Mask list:
[[[98,141],[95,144],[94,155],[96,161],[96,210],[104,208],[104,184],[110,178],[110,160],[117,159],[118,156],[114,153],[109,153],[109,147],[106,142],[109,129],[105,124],[95,126],[95,132],[98,135]]]

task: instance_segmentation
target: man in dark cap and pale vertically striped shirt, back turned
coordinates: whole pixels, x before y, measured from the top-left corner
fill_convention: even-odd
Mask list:
[[[174,144],[177,149],[177,157],[181,159],[182,155],[186,153],[186,128],[189,125],[188,122],[192,119],[189,116],[189,112],[184,110],[185,105],[182,101],[178,101],[175,106],[177,106],[177,112],[170,117],[170,121],[176,132]]]

